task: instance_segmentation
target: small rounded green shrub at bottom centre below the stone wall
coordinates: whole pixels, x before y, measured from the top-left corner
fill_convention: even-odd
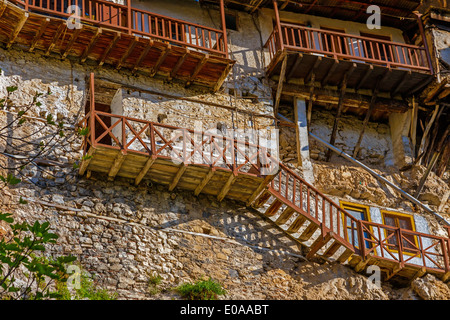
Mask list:
[[[189,300],[216,300],[219,295],[226,294],[222,285],[211,278],[198,280],[194,284],[184,283],[175,289],[183,298]]]

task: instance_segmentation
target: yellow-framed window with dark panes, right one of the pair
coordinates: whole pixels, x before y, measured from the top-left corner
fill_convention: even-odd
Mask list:
[[[415,231],[414,220],[412,216],[387,211],[382,211],[381,214],[383,215],[383,221],[385,225]],[[386,238],[388,238],[389,236],[390,238],[387,240],[387,243],[390,246],[388,247],[388,249],[391,251],[398,251],[397,235],[394,234],[394,231],[392,230],[386,230]],[[416,237],[412,234],[403,234],[402,247],[403,251],[405,252],[416,253],[418,248]]]

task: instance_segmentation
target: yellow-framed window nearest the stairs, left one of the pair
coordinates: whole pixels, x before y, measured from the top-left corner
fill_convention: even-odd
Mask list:
[[[369,219],[369,207],[364,205],[359,205],[350,202],[340,202],[341,208],[347,211],[353,218],[357,220],[365,220],[370,221]],[[347,228],[347,240],[355,247],[359,248],[359,237],[358,237],[358,229],[355,223],[352,223],[352,220],[349,217],[345,217],[344,226]],[[364,237],[366,239],[370,239],[370,236],[367,232],[364,232]],[[365,241],[365,246],[367,249],[372,247],[369,241]]]

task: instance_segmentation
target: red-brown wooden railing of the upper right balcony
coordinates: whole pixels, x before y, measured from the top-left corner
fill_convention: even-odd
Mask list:
[[[280,28],[273,30],[265,47],[271,60],[277,52],[286,49],[387,68],[431,72],[423,47],[287,23],[280,23]]]

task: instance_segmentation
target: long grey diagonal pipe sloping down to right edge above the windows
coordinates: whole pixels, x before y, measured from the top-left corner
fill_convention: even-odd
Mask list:
[[[417,200],[416,198],[414,198],[412,195],[410,195],[409,193],[403,191],[402,189],[400,189],[399,187],[397,187],[395,184],[393,184],[392,182],[390,182],[389,180],[383,178],[382,176],[380,176],[378,173],[376,173],[375,171],[373,171],[372,169],[370,169],[368,166],[366,166],[365,164],[359,162],[358,160],[356,160],[355,158],[352,158],[351,156],[349,156],[348,154],[346,154],[345,152],[343,152],[342,150],[336,148],[335,146],[329,144],[328,142],[325,142],[324,140],[322,140],[321,138],[319,138],[318,136],[316,136],[315,134],[312,134],[311,132],[309,133],[309,135],[317,140],[318,142],[320,142],[321,144],[325,145],[327,148],[333,150],[334,152],[336,152],[338,155],[344,157],[345,159],[349,160],[350,162],[360,166],[361,168],[363,168],[364,170],[366,170],[367,172],[369,172],[371,175],[373,175],[376,179],[384,182],[385,184],[389,185],[390,187],[394,188],[396,191],[398,191],[402,196],[404,196],[406,199],[410,200],[411,202],[413,202],[414,204],[420,206],[421,208],[423,208],[425,211],[427,211],[428,213],[433,214],[434,216],[436,216],[440,221],[442,221],[445,225],[450,226],[450,223],[445,220],[441,215],[439,215],[438,213],[434,212],[433,210],[431,210],[428,206],[426,206],[425,204],[423,204],[422,202],[420,202],[419,200]]]

